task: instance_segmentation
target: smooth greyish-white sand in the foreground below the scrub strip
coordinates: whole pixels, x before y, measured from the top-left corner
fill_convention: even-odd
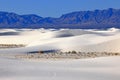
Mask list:
[[[24,61],[0,58],[0,80],[120,80],[120,57]]]

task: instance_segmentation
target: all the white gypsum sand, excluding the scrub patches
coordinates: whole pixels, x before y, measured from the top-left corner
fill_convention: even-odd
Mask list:
[[[26,45],[0,49],[0,80],[120,80],[120,56],[39,60],[13,58],[46,50],[120,53],[119,29],[3,29],[0,31],[0,44]]]

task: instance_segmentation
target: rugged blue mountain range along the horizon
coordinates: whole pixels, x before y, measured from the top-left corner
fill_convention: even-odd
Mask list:
[[[0,28],[107,29],[111,27],[120,28],[120,9],[76,11],[63,14],[59,18],[0,12]]]

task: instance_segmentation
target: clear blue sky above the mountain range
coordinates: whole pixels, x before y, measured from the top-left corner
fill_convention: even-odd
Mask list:
[[[0,11],[41,17],[57,18],[74,11],[107,8],[120,9],[120,0],[0,0]]]

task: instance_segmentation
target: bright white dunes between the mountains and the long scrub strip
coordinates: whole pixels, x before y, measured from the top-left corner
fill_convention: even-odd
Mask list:
[[[0,53],[27,53],[38,50],[120,52],[120,30],[13,29],[16,35],[0,36],[0,44],[25,44],[24,48],[0,49]]]

